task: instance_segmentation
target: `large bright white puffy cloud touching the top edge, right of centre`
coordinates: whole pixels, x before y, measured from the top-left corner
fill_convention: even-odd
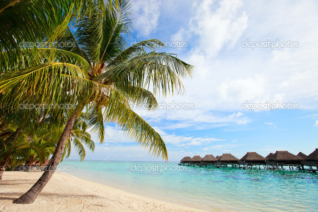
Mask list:
[[[225,44],[234,44],[238,40],[247,28],[245,12],[237,15],[237,10],[242,5],[240,0],[220,2],[205,0],[193,3],[194,15],[190,20],[189,31],[199,36],[200,51],[216,55]]]

